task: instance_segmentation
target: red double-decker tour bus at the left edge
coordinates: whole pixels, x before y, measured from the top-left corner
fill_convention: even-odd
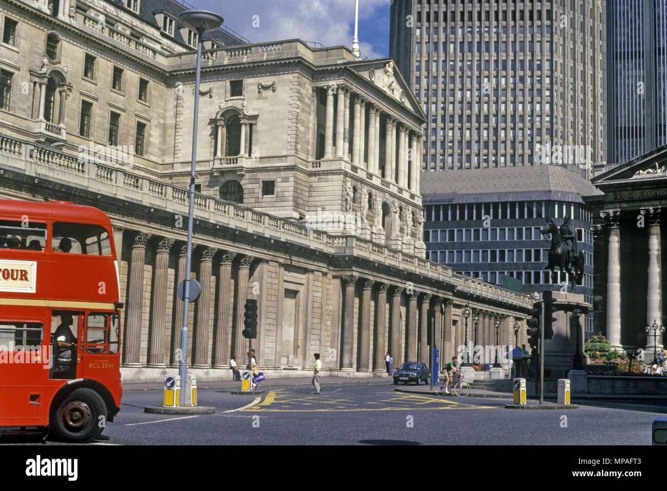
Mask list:
[[[0,199],[0,427],[99,436],[123,393],[119,300],[107,215]]]

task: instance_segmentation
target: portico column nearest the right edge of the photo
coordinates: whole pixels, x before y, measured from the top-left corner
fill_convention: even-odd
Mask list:
[[[662,324],[662,278],[660,272],[660,208],[647,208],[641,210],[642,215],[648,219],[648,289],[646,296],[646,323],[649,326],[656,322],[658,326]],[[658,333],[660,336],[660,333]],[[646,341],[648,344],[654,344],[654,339]],[[655,338],[658,342],[658,337]],[[662,338],[660,338],[662,341]],[[662,347],[662,344],[660,345]],[[651,346],[653,348],[653,346]]]

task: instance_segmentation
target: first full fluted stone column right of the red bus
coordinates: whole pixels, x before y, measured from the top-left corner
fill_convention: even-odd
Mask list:
[[[143,270],[146,244],[150,235],[137,233],[132,241],[127,294],[127,337],[124,343],[125,366],[141,366],[141,311],[143,310]]]

